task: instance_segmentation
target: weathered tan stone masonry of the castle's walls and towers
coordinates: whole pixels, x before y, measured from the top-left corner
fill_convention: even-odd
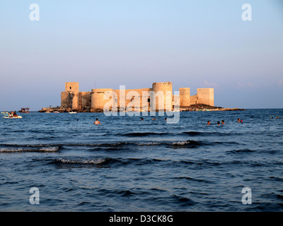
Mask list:
[[[104,100],[103,96],[108,91],[114,91],[117,94],[117,99],[113,100],[117,102],[117,107],[120,107],[120,90],[113,90],[110,88],[92,89],[91,92],[79,91],[79,83],[65,83],[65,91],[61,93],[61,109],[63,110],[75,110],[79,112],[102,112],[105,103],[109,100]],[[125,95],[130,91],[139,93],[139,98],[142,98],[143,92],[154,91],[155,93],[163,92],[164,96],[166,92],[170,92],[172,95],[172,83],[153,83],[151,88],[125,90]],[[214,89],[213,88],[198,88],[197,95],[190,95],[190,88],[180,88],[180,109],[190,107],[190,105],[210,105],[214,106]],[[173,106],[172,95],[172,107]],[[158,98],[156,98],[156,109],[158,110]],[[131,100],[125,100],[125,106]],[[150,99],[146,102],[149,105]],[[143,101],[140,99],[140,107],[143,109]],[[148,107],[148,106],[146,106]],[[160,109],[160,106],[159,106]],[[165,106],[164,106],[165,109]]]

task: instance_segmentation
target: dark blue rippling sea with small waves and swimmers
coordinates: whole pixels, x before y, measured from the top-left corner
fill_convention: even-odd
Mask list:
[[[1,212],[283,210],[283,109],[19,115],[0,118]]]

